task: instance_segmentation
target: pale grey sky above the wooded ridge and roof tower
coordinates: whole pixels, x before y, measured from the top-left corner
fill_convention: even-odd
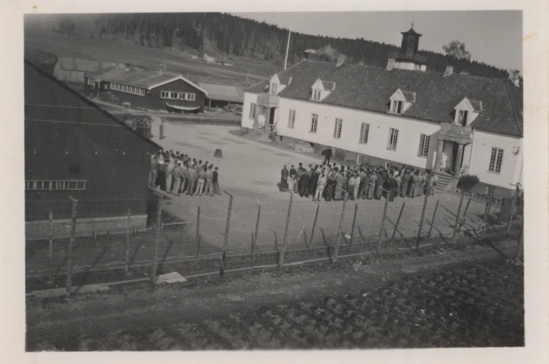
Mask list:
[[[522,73],[522,12],[519,10],[233,13],[304,34],[364,38],[400,46],[401,31],[423,36],[420,50],[442,53],[449,41],[465,43],[471,60]]]

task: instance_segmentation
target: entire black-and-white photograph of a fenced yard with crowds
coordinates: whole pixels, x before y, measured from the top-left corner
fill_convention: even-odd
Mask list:
[[[24,352],[527,347],[524,10],[36,5]]]

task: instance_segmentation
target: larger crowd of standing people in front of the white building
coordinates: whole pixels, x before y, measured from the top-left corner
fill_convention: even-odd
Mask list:
[[[301,197],[313,197],[313,201],[339,201],[348,194],[350,200],[381,199],[382,196],[394,201],[397,197],[414,198],[424,194],[434,194],[438,176],[409,166],[401,168],[367,166],[330,165],[329,157],[319,166],[309,164],[306,168],[299,163],[298,168],[286,165],[281,170],[279,188],[281,191],[293,191]]]

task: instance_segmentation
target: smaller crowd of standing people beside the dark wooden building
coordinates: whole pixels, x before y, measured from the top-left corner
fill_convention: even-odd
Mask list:
[[[218,167],[173,150],[152,154],[149,186],[175,196],[221,195]]]

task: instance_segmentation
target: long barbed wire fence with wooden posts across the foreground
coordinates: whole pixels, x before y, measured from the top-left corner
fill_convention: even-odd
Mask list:
[[[458,235],[522,231],[522,205],[473,196],[385,197],[312,202],[277,192],[176,199],[27,200],[27,282],[75,287],[112,281],[154,284],[177,271],[186,277],[253,268],[283,268],[365,254],[418,252]],[[511,206],[511,208],[510,208]],[[507,210],[504,214],[503,210]],[[47,212],[47,213],[45,213]],[[107,213],[109,212],[109,213]],[[497,224],[498,221],[504,224]],[[515,258],[522,254],[523,235]],[[78,288],[77,288],[78,289]]]

